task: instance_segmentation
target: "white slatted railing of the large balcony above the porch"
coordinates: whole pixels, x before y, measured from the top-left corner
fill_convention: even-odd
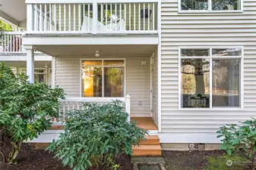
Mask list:
[[[28,32],[157,33],[156,0],[40,2],[27,2]]]

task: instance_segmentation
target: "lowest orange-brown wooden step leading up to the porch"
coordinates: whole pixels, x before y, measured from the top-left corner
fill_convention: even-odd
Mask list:
[[[140,145],[132,147],[132,156],[162,156],[160,145]]]

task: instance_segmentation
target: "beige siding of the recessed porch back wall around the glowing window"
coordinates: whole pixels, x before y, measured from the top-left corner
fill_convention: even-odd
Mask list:
[[[126,94],[131,96],[131,116],[150,116],[150,57],[122,58],[126,62]],[[64,88],[67,97],[81,96],[80,59],[55,57],[55,85]],[[147,61],[147,66],[141,66],[141,61]]]

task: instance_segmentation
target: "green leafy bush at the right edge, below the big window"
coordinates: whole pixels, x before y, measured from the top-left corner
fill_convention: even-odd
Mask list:
[[[223,138],[220,149],[232,153],[244,150],[250,157],[256,152],[256,119],[242,122],[242,125],[226,125],[217,131],[217,138]]]

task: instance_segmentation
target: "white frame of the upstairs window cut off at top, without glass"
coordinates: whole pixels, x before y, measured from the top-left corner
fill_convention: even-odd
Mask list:
[[[208,0],[207,10],[182,10],[182,0],[178,1],[179,13],[242,13],[244,11],[244,1],[240,0],[241,8],[239,10],[212,10],[212,0]]]

